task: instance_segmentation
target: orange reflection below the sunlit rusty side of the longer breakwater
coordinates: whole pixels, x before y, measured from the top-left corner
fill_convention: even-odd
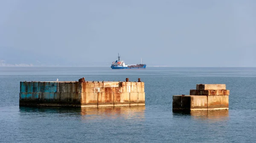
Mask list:
[[[138,107],[104,107],[104,108],[81,108],[82,120],[93,119],[144,119],[145,106]]]

